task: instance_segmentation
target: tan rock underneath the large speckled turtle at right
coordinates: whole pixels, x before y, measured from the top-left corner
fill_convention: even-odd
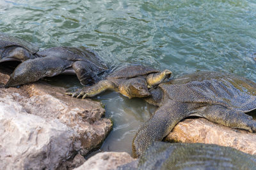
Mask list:
[[[209,143],[230,146],[256,155],[256,134],[209,122],[205,118],[185,119],[166,137],[167,141]]]

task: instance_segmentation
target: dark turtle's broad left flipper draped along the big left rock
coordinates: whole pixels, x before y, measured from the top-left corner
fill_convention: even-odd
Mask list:
[[[68,60],[54,56],[26,60],[15,68],[5,87],[16,87],[37,81],[45,76],[55,76],[62,73],[71,64],[72,62]]]

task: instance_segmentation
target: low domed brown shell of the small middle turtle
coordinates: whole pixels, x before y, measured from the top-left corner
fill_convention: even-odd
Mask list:
[[[109,78],[133,78],[136,76],[144,76],[150,73],[159,73],[160,71],[145,66],[125,66],[122,69],[110,74]]]

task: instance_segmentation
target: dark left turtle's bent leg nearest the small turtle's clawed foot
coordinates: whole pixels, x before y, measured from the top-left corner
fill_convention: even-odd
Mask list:
[[[72,68],[76,72],[77,78],[82,85],[95,83],[100,80],[99,76],[97,76],[99,71],[94,71],[90,62],[76,61],[72,64]]]

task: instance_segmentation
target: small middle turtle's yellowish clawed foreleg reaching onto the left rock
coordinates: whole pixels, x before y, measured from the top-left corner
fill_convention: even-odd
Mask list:
[[[67,95],[72,95],[72,97],[81,97],[84,99],[85,97],[93,97],[97,94],[100,94],[101,92],[104,92],[105,90],[115,90],[117,87],[114,83],[108,80],[101,80],[95,85],[83,87],[82,89],[77,90],[77,92],[70,93],[67,92]]]

